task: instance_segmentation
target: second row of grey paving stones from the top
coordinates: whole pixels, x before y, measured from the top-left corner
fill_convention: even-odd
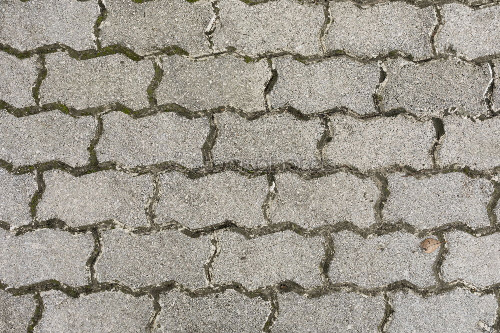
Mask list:
[[[500,8],[500,7],[499,7]],[[154,91],[155,61],[163,73]],[[159,62],[158,62],[159,61]],[[192,60],[166,56],[133,61],[121,54],[77,60],[66,53],[45,56],[46,77],[36,90],[41,105],[62,103],[82,110],[120,103],[130,109],[176,104],[191,111],[232,106],[247,113],[293,107],[304,114],[348,109],[359,115],[405,109],[419,116],[454,109],[463,115],[489,114],[492,64],[458,59],[416,64],[403,59],[360,63],[345,56],[304,64],[291,56],[256,62],[231,54]],[[0,99],[12,107],[35,106],[36,57],[19,59],[0,52]],[[272,78],[274,70],[276,78]],[[45,74],[44,74],[45,75]],[[381,77],[383,82],[380,83]],[[269,81],[272,80],[270,89]],[[492,89],[490,89],[490,86]],[[267,91],[269,89],[269,91]],[[379,108],[379,109],[378,109]]]

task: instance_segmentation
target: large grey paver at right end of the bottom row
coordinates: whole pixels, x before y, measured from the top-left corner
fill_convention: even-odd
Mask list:
[[[391,303],[394,313],[387,325],[390,332],[484,332],[479,323],[493,326],[498,307],[493,294],[480,296],[463,289],[428,298],[398,292]]]

